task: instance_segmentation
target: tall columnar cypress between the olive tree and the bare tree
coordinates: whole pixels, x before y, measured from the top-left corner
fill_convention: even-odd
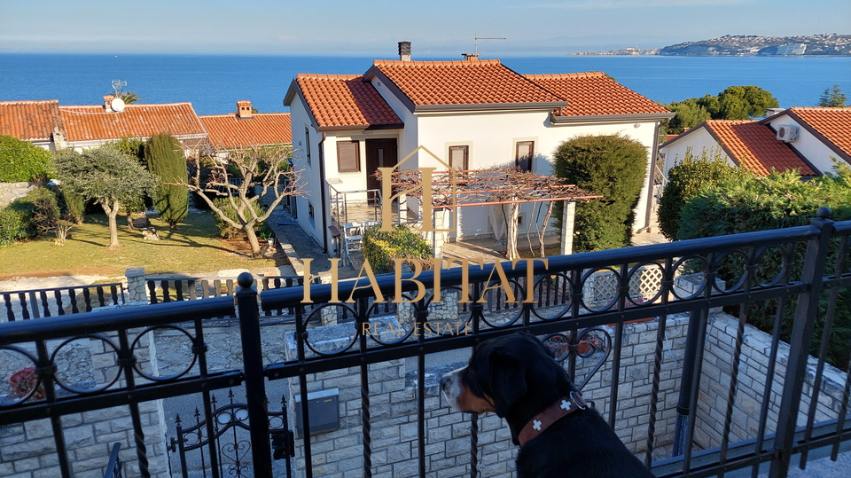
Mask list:
[[[188,182],[186,158],[180,142],[165,133],[154,135],[144,144],[144,159],[151,173],[162,182],[153,198],[154,208],[160,213],[160,219],[176,229],[189,214],[189,191],[185,186],[168,184]]]

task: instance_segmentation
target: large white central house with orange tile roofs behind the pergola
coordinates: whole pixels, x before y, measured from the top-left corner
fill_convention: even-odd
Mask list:
[[[650,166],[660,123],[673,116],[602,73],[522,75],[496,59],[376,60],[365,74],[299,74],[284,103],[295,167],[309,190],[298,201],[299,222],[332,253],[332,194],[378,190],[376,168],[394,166],[419,146],[456,169],[518,166],[551,175],[563,141],[621,134],[646,145]],[[441,161],[420,152],[402,168],[445,169]],[[636,230],[650,225],[651,178]],[[461,209],[451,239],[498,236],[493,207]],[[520,221],[521,232],[535,226],[531,205]]]

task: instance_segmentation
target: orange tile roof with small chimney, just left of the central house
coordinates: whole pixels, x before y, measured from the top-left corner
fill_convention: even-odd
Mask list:
[[[236,114],[214,114],[199,119],[216,148],[293,143],[289,113],[255,113],[242,120]]]

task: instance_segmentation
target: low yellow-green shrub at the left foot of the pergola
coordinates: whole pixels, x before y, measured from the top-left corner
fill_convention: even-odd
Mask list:
[[[394,225],[393,232],[371,226],[363,231],[363,258],[376,274],[393,272],[394,259],[433,259],[432,247],[407,226]],[[427,269],[427,267],[426,267]]]

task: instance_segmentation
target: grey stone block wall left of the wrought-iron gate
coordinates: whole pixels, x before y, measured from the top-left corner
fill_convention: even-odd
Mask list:
[[[139,331],[130,331],[135,337]],[[110,337],[117,343],[117,336]],[[143,370],[158,373],[151,357],[156,351],[152,341],[145,336],[139,341],[136,355]],[[48,342],[52,351],[59,341]],[[23,347],[27,349],[27,347]],[[35,352],[34,347],[28,351]],[[10,400],[11,389],[8,377],[23,367],[32,366],[32,362],[20,354],[8,350],[0,351],[0,376],[3,377],[3,397]],[[112,380],[118,373],[115,363],[116,354],[104,341],[85,338],[71,341],[59,349],[54,364],[60,380],[74,388],[99,388],[100,384]],[[137,380],[144,383],[144,380]],[[125,386],[119,380],[113,387]],[[57,386],[58,394],[70,392]],[[160,401],[139,404],[143,424],[144,443],[147,449],[149,470],[154,478],[168,477],[163,433],[165,422]],[[104,475],[113,443],[121,443],[121,460],[125,465],[125,474],[138,476],[138,459],[133,424],[129,407],[118,406],[103,410],[73,413],[62,417],[62,426],[66,440],[68,460],[74,478],[95,478]],[[39,419],[0,427],[0,476],[6,478],[52,478],[59,476],[59,460],[53,431],[49,419]]]

